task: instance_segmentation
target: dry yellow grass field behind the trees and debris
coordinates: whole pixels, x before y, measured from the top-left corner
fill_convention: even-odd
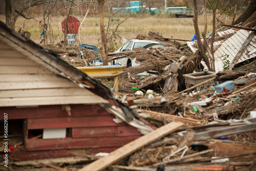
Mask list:
[[[82,21],[82,16],[77,16],[80,21]],[[42,18],[38,18],[38,21]],[[53,30],[53,35],[56,37],[55,44],[63,40],[63,33],[61,32],[61,22],[65,17],[53,17],[51,18],[51,27]],[[105,16],[105,25],[108,22],[108,17]],[[0,16],[0,20],[5,22],[5,16]],[[212,15],[208,16],[208,29],[207,33],[212,30]],[[25,19],[19,17],[15,30],[19,26],[24,25]],[[39,22],[36,20],[26,20],[25,30],[31,33],[31,39],[35,42],[40,40],[41,28]],[[203,16],[199,16],[199,28],[200,31],[203,30],[204,19]],[[146,34],[149,31],[158,32],[164,37],[168,38],[178,38],[189,40],[193,37],[195,30],[193,26],[192,18],[172,18],[168,15],[155,15],[155,16],[135,16],[129,18],[119,27],[119,35],[127,40],[135,38],[138,34]],[[100,40],[100,30],[99,30],[99,17],[98,16],[88,16],[82,25],[80,31],[81,41],[85,44],[91,44],[95,46],[99,45]],[[77,41],[78,42],[78,41]],[[184,41],[183,41],[184,42]],[[117,46],[119,47],[121,42],[117,40]]]

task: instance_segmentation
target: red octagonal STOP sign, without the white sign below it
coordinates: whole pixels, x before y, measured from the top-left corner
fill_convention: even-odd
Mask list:
[[[67,20],[67,17],[61,22],[62,33],[65,33],[66,20]],[[74,33],[77,35],[79,26],[80,26],[79,19],[77,19],[77,17],[75,16],[69,16],[67,34]]]

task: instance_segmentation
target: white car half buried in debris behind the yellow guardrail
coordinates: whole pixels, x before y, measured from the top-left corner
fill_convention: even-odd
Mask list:
[[[135,48],[150,48],[150,47],[159,47],[159,48],[171,48],[171,47],[165,47],[160,45],[160,42],[158,41],[154,41],[154,40],[139,40],[139,39],[132,39],[128,42],[126,42],[126,44],[124,44],[120,49],[118,49],[115,52],[124,52],[124,51],[130,51],[133,50]],[[135,67],[135,66],[139,66],[140,62],[136,60],[136,57],[124,57],[124,58],[120,58],[121,56],[119,56],[119,59],[113,60],[113,65],[115,65],[117,62],[121,64],[121,66],[124,67]]]

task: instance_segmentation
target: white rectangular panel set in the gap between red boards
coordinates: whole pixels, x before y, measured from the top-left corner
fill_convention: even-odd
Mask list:
[[[66,138],[66,132],[66,128],[44,129],[44,132],[42,133],[42,139]]]

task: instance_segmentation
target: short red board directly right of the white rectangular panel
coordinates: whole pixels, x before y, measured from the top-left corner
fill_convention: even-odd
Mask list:
[[[73,138],[141,136],[133,126],[79,127],[72,129]]]

